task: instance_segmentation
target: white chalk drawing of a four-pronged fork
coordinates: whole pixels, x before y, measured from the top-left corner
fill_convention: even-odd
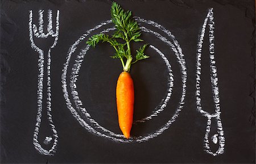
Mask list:
[[[29,28],[29,35],[30,35],[30,42],[31,42],[31,47],[34,49],[36,52],[39,53],[39,59],[38,59],[38,69],[39,69],[39,74],[38,74],[38,113],[36,115],[36,124],[35,124],[35,131],[34,131],[34,136],[33,136],[33,144],[35,146],[35,149],[38,150],[40,154],[44,155],[53,155],[53,153],[56,152],[56,146],[57,146],[57,131],[55,128],[55,125],[53,124],[52,121],[52,115],[51,115],[51,49],[55,47],[57,44],[57,40],[59,37],[59,10],[57,10],[57,16],[56,16],[56,32],[54,33],[52,30],[52,10],[48,10],[48,26],[47,26],[47,31],[48,33],[45,34],[43,32],[43,10],[39,10],[39,28],[37,30],[36,25],[32,24],[32,10],[30,10],[30,15],[29,15],[29,21],[28,21],[28,28]],[[54,142],[51,147],[51,149],[46,150],[42,148],[42,146],[39,144],[38,141],[38,134],[39,134],[39,129],[40,129],[40,124],[41,124],[41,117],[42,117],[42,111],[43,111],[43,77],[44,77],[44,51],[37,47],[34,43],[33,39],[33,33],[35,37],[40,37],[40,38],[47,38],[48,36],[55,37],[55,40],[48,50],[47,54],[47,116],[48,116],[48,122],[51,127],[51,130],[53,132],[53,138]],[[47,139],[47,138],[46,138]],[[49,139],[49,137],[48,137]],[[49,140],[47,140],[49,141]],[[51,140],[50,140],[51,141]],[[49,141],[49,142],[50,142]],[[48,143],[48,142],[47,142]]]

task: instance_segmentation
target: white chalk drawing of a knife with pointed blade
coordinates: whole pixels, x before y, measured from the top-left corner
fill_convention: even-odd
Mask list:
[[[214,100],[214,107],[215,113],[208,113],[203,110],[201,107],[201,97],[200,97],[200,75],[201,75],[201,52],[204,42],[204,35],[205,35],[205,28],[209,26],[209,58],[210,58],[210,81],[212,83],[212,92],[213,92],[213,100]],[[201,34],[199,37],[199,43],[197,44],[197,56],[196,56],[196,108],[197,111],[201,113],[201,115],[207,117],[207,128],[205,131],[204,136],[204,147],[205,152],[211,155],[218,155],[224,153],[224,146],[225,146],[225,137],[224,131],[221,123],[221,112],[220,112],[220,95],[218,91],[218,78],[217,78],[217,67],[215,66],[216,61],[214,60],[214,21],[213,21],[213,9],[209,9],[209,12],[204,20],[203,27],[201,29]],[[210,150],[209,144],[209,132],[211,128],[212,118],[217,120],[217,132],[218,134],[214,134],[212,136],[212,141],[214,144],[219,144],[218,150],[216,152],[212,152]]]

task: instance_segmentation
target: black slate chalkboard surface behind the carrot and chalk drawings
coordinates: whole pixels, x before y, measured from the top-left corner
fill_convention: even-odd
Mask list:
[[[255,163],[254,1],[117,2],[124,9],[133,11],[134,16],[162,24],[179,41],[187,67],[185,104],[179,117],[163,134],[141,143],[114,142],[86,131],[67,108],[61,74],[69,47],[87,30],[110,19],[112,1],[1,1],[1,163]],[[197,41],[210,7],[214,11],[215,57],[225,136],[225,152],[215,157],[204,151],[207,118],[197,112],[195,98]],[[38,22],[40,9],[53,10],[53,18],[56,10],[60,11],[59,40],[51,52],[52,118],[59,136],[53,156],[39,154],[32,140],[37,112],[39,54],[31,48],[28,16],[32,10],[34,23]],[[155,31],[160,32],[156,28]],[[205,36],[203,45],[201,96],[202,106],[213,113],[208,37]],[[164,125],[174,115],[181,96],[180,65],[174,52],[147,33],[143,33],[142,38],[166,54],[175,81],[164,112],[148,123],[134,125],[131,132],[134,136],[154,132]],[[35,41],[45,50],[49,47],[42,44],[42,40]],[[83,42],[79,46],[71,57],[71,64],[86,45]],[[150,58],[131,68],[135,85],[135,119],[149,115],[167,89],[166,66],[150,50],[146,50]],[[77,90],[93,119],[120,133],[115,85],[122,69],[118,60],[109,57],[113,52],[107,44],[89,50],[82,62]],[[68,79],[70,75],[71,68],[68,69]],[[44,137],[51,135],[45,106],[43,111],[39,133],[41,145],[44,145]],[[45,148],[49,149],[49,146]]]

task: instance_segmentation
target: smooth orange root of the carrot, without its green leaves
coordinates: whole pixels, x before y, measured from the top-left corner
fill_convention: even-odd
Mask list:
[[[134,86],[133,79],[127,72],[122,72],[117,81],[118,123],[123,135],[130,137],[133,125]]]

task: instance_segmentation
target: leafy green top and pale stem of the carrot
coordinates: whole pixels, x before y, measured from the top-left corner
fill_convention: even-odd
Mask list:
[[[93,35],[88,39],[88,41],[86,41],[86,44],[95,47],[99,41],[110,43],[115,49],[115,54],[111,57],[119,58],[122,62],[123,70],[125,72],[129,72],[131,64],[134,64],[138,60],[149,57],[144,54],[148,44],[144,44],[142,47],[136,50],[137,54],[135,55],[135,60],[133,60],[133,56],[131,55],[130,42],[143,41],[142,39],[139,39],[141,36],[141,31],[139,29],[138,23],[131,16],[131,11],[124,11],[122,7],[116,2],[112,3],[110,12],[112,16],[112,22],[115,24],[116,28],[114,34],[111,37],[105,33]],[[119,43],[117,39],[122,39],[125,41],[125,43]]]

